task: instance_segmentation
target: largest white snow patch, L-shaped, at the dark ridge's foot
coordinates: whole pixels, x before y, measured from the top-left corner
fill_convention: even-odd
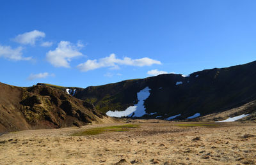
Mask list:
[[[140,90],[140,92],[137,93],[138,97],[138,104],[135,104],[134,106],[129,106],[125,111],[108,111],[106,115],[109,117],[142,117],[146,113],[146,108],[144,107],[144,100],[150,96],[149,88],[145,87],[145,89]]]

